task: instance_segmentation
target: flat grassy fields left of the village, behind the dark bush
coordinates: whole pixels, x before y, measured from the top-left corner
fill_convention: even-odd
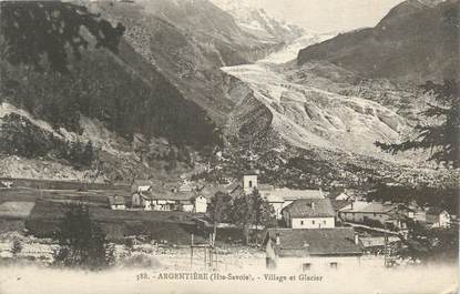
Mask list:
[[[0,221],[7,231],[28,230],[29,234],[49,237],[58,229],[69,202],[83,202],[89,205],[91,216],[112,241],[123,241],[125,236],[144,235],[151,240],[167,241],[172,244],[190,244],[191,235],[196,242],[204,241],[194,219],[202,214],[185,212],[113,211],[108,203],[109,195],[123,195],[130,203],[127,186],[106,186],[106,189],[70,189],[63,182],[17,181],[11,189],[0,189]],[[74,183],[73,183],[74,184]],[[47,186],[47,187],[43,187]],[[75,187],[75,186],[74,186]],[[100,186],[99,186],[100,187]],[[225,231],[225,230],[224,230]],[[241,230],[218,232],[219,242],[238,242]]]

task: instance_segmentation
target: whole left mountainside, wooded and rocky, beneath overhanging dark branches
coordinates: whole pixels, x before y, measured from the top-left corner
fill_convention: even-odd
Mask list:
[[[126,181],[166,176],[176,161],[176,174],[196,168],[192,158],[221,142],[234,105],[219,68],[283,44],[244,32],[206,0],[86,4],[125,26],[117,54],[91,47],[69,74],[1,60],[0,176]],[[75,163],[90,141],[94,160]]]

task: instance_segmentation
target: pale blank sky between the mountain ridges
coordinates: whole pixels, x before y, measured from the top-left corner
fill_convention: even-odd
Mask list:
[[[235,0],[238,1],[238,0]],[[402,0],[251,0],[269,14],[318,32],[374,27]]]

